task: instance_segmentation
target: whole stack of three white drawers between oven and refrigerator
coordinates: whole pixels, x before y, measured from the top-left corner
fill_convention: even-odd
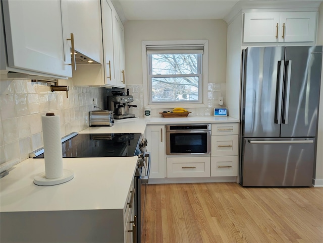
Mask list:
[[[238,175],[239,124],[211,125],[211,176]]]

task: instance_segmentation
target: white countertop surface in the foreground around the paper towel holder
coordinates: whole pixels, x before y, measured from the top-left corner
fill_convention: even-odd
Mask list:
[[[63,168],[74,178],[55,186],[37,186],[44,159],[27,159],[0,180],[0,211],[65,211],[123,209],[134,177],[137,156],[64,158]]]

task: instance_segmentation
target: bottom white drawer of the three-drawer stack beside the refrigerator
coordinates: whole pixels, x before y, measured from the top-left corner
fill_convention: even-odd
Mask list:
[[[238,176],[238,156],[211,157],[211,176]]]

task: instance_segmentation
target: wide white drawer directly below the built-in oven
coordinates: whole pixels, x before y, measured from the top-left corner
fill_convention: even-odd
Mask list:
[[[167,158],[167,177],[209,177],[210,157]]]

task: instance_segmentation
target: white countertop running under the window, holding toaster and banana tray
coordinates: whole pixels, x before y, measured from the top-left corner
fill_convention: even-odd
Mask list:
[[[239,123],[239,119],[230,116],[190,116],[187,117],[150,117],[137,119],[124,119],[115,121],[112,127],[90,127],[79,133],[141,133],[143,134],[146,125],[167,125],[167,124],[201,124],[201,123]]]

